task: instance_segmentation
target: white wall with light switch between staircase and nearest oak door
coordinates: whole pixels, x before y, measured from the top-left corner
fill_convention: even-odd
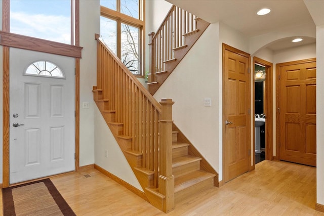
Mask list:
[[[218,31],[218,23],[206,29],[154,97],[175,101],[174,123],[219,173]],[[211,107],[204,98],[212,99]]]

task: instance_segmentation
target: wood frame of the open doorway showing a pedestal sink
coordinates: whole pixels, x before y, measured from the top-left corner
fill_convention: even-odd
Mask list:
[[[260,59],[258,57],[253,57],[253,73],[255,72],[255,64],[261,64],[265,66],[265,111],[266,114],[266,130],[265,130],[265,159],[273,160],[273,64]],[[255,83],[255,76],[253,76],[253,84]],[[253,101],[255,100],[255,86],[252,85],[253,89]],[[253,103],[253,111],[255,111],[255,103]],[[255,128],[255,121],[253,121],[253,128]],[[255,143],[255,131],[253,130],[253,143]],[[253,145],[253,169],[255,169],[255,144]]]

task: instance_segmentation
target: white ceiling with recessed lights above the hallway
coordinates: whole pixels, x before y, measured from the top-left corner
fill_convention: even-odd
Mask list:
[[[307,7],[303,0],[167,1],[210,23],[220,21],[248,37],[275,32],[287,26],[307,25],[315,29],[316,25],[313,19],[317,23],[324,21],[323,0],[305,0]],[[271,12],[264,16],[258,16],[257,12],[262,8],[269,8]],[[310,37],[303,38],[304,40],[299,43],[292,43],[292,39],[279,40],[270,44],[268,48],[279,50],[316,42],[315,38]]]

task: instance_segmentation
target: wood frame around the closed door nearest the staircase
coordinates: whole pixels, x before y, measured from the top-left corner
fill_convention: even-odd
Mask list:
[[[225,104],[225,91],[224,91],[224,86],[225,86],[225,79],[224,79],[224,74],[225,74],[225,50],[229,50],[229,51],[231,51],[231,52],[234,52],[234,53],[237,53],[238,55],[241,55],[241,56],[244,56],[244,57],[246,57],[246,58],[248,58],[249,59],[249,69],[251,68],[251,55],[249,54],[249,53],[247,53],[247,52],[245,52],[245,51],[242,51],[242,50],[239,50],[239,49],[237,49],[237,48],[234,48],[234,47],[232,47],[232,46],[230,46],[230,45],[227,45],[227,44],[225,44],[225,43],[222,43],[223,45],[223,47],[222,47],[222,85],[223,85],[223,93],[222,93],[222,103],[223,103],[223,107],[222,107],[222,151],[223,151],[223,161],[222,161],[222,163],[223,163],[223,166],[222,166],[222,168],[223,168],[223,171],[222,171],[222,173],[223,173],[223,179],[222,179],[222,181],[219,183],[219,185],[221,186],[221,185],[223,185],[223,184],[225,184],[225,181],[224,181],[224,176],[225,176],[225,124],[224,124],[224,122],[225,122],[225,118],[226,118],[226,116],[225,116],[225,109],[226,109],[226,107],[224,106],[224,104]],[[251,76],[251,73],[250,73],[250,76]],[[251,77],[249,78],[249,81],[251,82]],[[250,107],[251,107],[251,87],[248,89],[248,94],[249,94],[249,105],[250,105]],[[251,110],[251,108],[250,108],[250,110]],[[250,112],[250,117],[251,117],[251,112]],[[248,134],[248,145],[249,145],[249,150],[250,150],[250,153],[251,153],[251,118],[249,118],[250,119],[250,121],[247,123],[247,134]],[[251,169],[251,155],[249,156],[249,171],[251,171],[252,169]]]

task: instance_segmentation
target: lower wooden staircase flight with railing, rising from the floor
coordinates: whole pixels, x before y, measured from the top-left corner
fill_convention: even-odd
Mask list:
[[[179,200],[217,185],[217,173],[173,124],[172,99],[158,103],[96,39],[94,101],[149,202],[169,212]]]

